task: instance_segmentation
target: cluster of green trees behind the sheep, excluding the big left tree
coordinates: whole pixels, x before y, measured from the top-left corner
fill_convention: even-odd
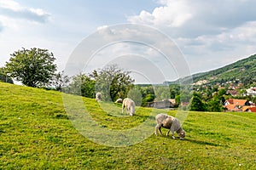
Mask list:
[[[96,93],[101,92],[104,101],[125,99],[129,90],[133,88],[134,82],[129,74],[129,71],[122,71],[117,65],[108,65],[102,70],[92,71],[88,75],[80,73],[74,76],[63,92],[87,98],[95,98]],[[137,103],[139,105],[142,101],[137,100]]]

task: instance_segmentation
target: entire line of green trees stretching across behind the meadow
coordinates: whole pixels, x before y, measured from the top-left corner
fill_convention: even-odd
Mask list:
[[[227,89],[218,89],[218,86],[184,91],[179,84],[134,84],[130,73],[118,65],[108,65],[101,70],[67,77],[63,71],[57,72],[55,57],[47,49],[22,48],[11,54],[9,62],[0,68],[0,81],[13,83],[12,79],[15,79],[28,87],[55,89],[87,98],[95,98],[96,93],[101,92],[104,101],[129,97],[142,106],[148,102],[175,99],[174,107],[181,105],[190,111],[224,111],[224,101],[232,98]],[[252,96],[240,98],[256,102]]]

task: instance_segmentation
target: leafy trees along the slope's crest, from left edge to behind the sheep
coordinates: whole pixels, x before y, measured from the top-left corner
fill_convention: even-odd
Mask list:
[[[67,77],[64,71],[57,72],[54,54],[47,49],[22,48],[10,55],[9,62],[0,68],[2,82],[13,83],[13,78],[28,87],[55,89],[88,98],[95,98],[96,92],[101,92],[106,101],[124,99],[134,87],[130,72],[122,71],[118,65]]]

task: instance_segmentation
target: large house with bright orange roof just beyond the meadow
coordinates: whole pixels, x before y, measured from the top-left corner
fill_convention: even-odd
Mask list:
[[[247,99],[228,99],[224,102],[227,111],[243,111],[244,106],[250,105]]]

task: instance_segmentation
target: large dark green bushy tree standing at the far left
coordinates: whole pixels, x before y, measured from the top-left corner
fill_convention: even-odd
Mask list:
[[[48,85],[55,75],[55,57],[47,49],[31,48],[15,51],[11,54],[6,70],[10,77],[24,85],[40,88]]]

